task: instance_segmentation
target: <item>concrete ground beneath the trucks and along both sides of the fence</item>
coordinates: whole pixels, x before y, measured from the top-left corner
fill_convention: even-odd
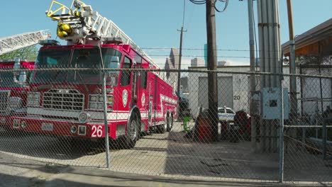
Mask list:
[[[331,186],[277,183],[277,159],[273,155],[250,153],[250,142],[202,144],[183,136],[178,123],[172,132],[145,135],[134,149],[111,150],[110,168],[106,169],[104,150],[73,151],[68,142],[55,137],[2,132],[0,187]],[[299,172],[296,168],[287,171],[291,176],[299,174],[297,179],[313,178],[309,171]],[[330,170],[320,171],[322,176],[323,171],[329,175]]]

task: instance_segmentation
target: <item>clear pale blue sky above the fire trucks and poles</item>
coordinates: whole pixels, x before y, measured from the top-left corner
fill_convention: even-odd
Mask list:
[[[59,0],[64,4],[71,0]],[[247,1],[229,0],[226,12],[216,13],[216,39],[218,60],[232,64],[248,64],[248,7]],[[51,0],[11,0],[1,2],[0,38],[33,30],[50,29],[53,38],[57,24],[45,16]],[[157,63],[165,63],[170,47],[179,47],[182,26],[183,0],[85,0],[94,11],[114,21],[140,47],[166,48],[146,50]],[[294,33],[306,30],[332,18],[332,0],[292,0]],[[221,8],[223,4],[218,4]],[[254,1],[254,7],[257,4]],[[256,10],[255,10],[256,11]],[[255,12],[256,13],[256,12]],[[257,16],[256,16],[257,18]],[[203,49],[206,43],[205,5],[192,4],[186,0],[184,49]],[[282,43],[289,39],[286,0],[280,0],[280,31]],[[183,64],[204,55],[203,50],[184,50]]]

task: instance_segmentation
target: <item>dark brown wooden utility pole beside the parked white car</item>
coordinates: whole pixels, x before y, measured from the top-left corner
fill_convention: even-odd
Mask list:
[[[207,67],[209,93],[209,124],[212,130],[212,141],[218,141],[218,89],[216,70],[216,0],[206,0],[206,35],[207,35]]]

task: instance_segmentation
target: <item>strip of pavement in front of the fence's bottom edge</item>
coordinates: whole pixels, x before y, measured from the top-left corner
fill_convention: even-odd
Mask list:
[[[313,184],[280,184],[254,182],[199,181],[191,179],[170,179],[158,176],[126,174],[101,168],[63,166],[31,159],[12,157],[0,152],[1,187],[42,186],[315,186]],[[316,185],[316,186],[327,186]]]

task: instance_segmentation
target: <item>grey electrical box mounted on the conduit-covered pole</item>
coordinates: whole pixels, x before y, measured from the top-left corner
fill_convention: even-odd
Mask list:
[[[288,89],[283,88],[284,101],[284,120],[289,118],[289,100]],[[280,88],[264,88],[262,89],[262,118],[265,120],[280,119],[282,111],[282,99]]]

